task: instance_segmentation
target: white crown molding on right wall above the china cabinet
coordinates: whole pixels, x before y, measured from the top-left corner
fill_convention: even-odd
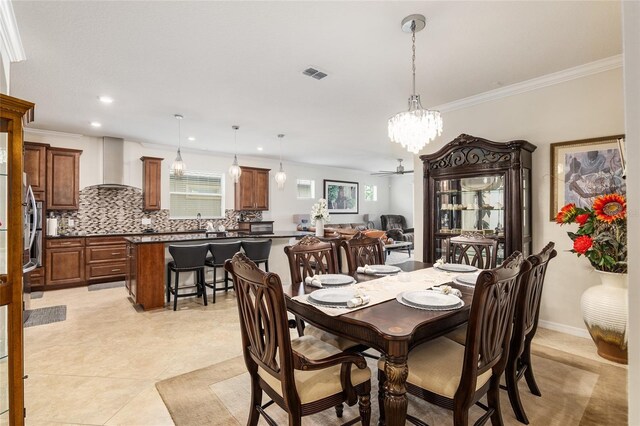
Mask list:
[[[589,62],[584,65],[579,65],[577,67],[543,75],[542,77],[536,77],[532,78],[531,80],[526,80],[520,83],[501,87],[499,89],[490,90],[478,95],[458,99],[457,101],[448,102],[446,104],[438,105],[429,109],[435,109],[440,112],[449,112],[458,109],[469,108],[485,102],[519,95],[521,93],[542,89],[543,87],[553,86],[554,84],[564,83],[566,81],[575,80],[577,78],[582,78],[621,67],[622,55],[615,55],[609,58],[600,59],[598,61]]]

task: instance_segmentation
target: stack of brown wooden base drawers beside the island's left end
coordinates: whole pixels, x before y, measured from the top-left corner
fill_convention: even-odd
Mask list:
[[[87,283],[123,280],[127,271],[123,237],[87,237],[85,240]]]

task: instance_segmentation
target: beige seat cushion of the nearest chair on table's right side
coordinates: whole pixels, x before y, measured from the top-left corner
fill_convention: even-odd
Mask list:
[[[409,352],[407,382],[429,392],[453,399],[460,378],[464,346],[445,337],[423,343]],[[378,368],[384,370],[384,358],[378,361]],[[478,376],[476,390],[491,378],[491,369]]]

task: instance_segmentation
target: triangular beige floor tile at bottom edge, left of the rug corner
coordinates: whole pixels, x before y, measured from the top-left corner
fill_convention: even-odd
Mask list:
[[[154,385],[146,387],[106,423],[107,425],[173,425]]]

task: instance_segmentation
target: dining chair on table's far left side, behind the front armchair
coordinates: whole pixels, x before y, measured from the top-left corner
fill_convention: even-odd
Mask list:
[[[313,235],[305,235],[297,244],[286,246],[284,252],[289,260],[292,283],[304,282],[306,277],[314,275],[340,272],[336,244],[333,241],[321,241]],[[342,351],[359,346],[356,342],[313,325],[305,326],[299,318],[296,318],[296,327],[300,336],[312,335]]]

